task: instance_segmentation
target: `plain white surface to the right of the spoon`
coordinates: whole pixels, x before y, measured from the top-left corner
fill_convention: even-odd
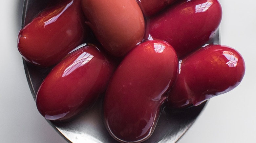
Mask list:
[[[244,57],[245,76],[232,91],[210,100],[203,114],[178,143],[255,143],[256,1],[220,0],[221,44]]]

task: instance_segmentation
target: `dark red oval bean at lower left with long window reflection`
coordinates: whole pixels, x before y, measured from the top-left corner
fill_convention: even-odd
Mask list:
[[[90,107],[106,89],[114,64],[98,49],[78,49],[47,75],[36,96],[38,111],[49,120],[67,120]]]

